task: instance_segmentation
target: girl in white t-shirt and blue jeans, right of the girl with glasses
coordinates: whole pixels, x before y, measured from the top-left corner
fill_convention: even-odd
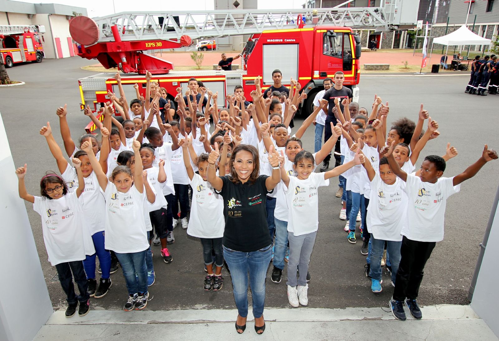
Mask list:
[[[105,246],[113,250],[120,262],[128,289],[124,311],[142,310],[147,306],[146,251],[147,230],[144,220],[144,179],[142,163],[136,162],[134,174],[124,166],[116,167],[110,178],[102,171],[88,142],[81,146],[88,154],[106,201]],[[132,148],[135,161],[140,160],[140,143]]]

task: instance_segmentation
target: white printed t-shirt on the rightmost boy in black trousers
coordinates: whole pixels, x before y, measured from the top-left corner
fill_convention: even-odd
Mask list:
[[[461,190],[453,185],[454,177],[441,177],[435,183],[423,182],[419,176],[407,174],[409,196],[407,222],[402,235],[411,240],[438,242],[444,239],[444,215],[447,198]]]

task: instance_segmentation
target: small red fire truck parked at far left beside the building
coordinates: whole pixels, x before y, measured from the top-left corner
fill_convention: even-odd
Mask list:
[[[43,25],[0,25],[0,56],[5,67],[14,63],[41,63],[44,58]]]

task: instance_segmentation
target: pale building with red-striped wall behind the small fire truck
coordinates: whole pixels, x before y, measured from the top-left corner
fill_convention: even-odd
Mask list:
[[[43,25],[45,58],[65,58],[77,50],[69,34],[69,20],[75,15],[87,15],[83,7],[58,3],[28,3],[0,0],[0,25]]]

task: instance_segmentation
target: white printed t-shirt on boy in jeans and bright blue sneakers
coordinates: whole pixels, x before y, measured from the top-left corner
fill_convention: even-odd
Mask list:
[[[386,184],[376,172],[371,181],[371,199],[367,207],[367,230],[374,238],[401,241],[400,231],[406,221],[408,197],[406,183],[399,177]]]

